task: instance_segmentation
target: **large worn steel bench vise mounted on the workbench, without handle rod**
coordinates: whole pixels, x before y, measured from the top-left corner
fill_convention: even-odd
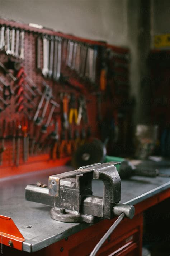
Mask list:
[[[27,185],[26,200],[52,206],[52,219],[63,222],[96,223],[122,212],[132,219],[134,206],[118,203],[121,179],[115,167],[117,164],[119,162],[96,163],[49,176],[48,188]],[[103,197],[93,196],[92,179],[103,181]]]

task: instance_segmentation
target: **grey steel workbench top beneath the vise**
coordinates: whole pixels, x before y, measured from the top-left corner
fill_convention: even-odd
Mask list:
[[[73,170],[69,166],[31,172],[0,179],[0,215],[11,217],[25,238],[23,250],[38,251],[71,234],[88,227],[87,223],[62,223],[51,219],[51,207],[25,200],[25,187],[37,181],[48,184],[48,177],[60,172]],[[162,168],[169,172],[169,168]],[[93,194],[103,196],[103,182],[93,180]],[[133,176],[121,180],[121,203],[132,203],[145,200],[163,190],[170,188],[170,178]],[[27,226],[32,226],[27,228]]]

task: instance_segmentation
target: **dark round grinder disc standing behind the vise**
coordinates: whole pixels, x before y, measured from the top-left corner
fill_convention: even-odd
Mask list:
[[[105,159],[106,148],[99,139],[81,145],[72,156],[72,166],[78,169],[81,166],[93,163],[102,163]]]

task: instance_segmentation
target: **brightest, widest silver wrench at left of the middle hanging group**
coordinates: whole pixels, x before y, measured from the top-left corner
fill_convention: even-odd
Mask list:
[[[44,77],[48,75],[48,64],[49,64],[49,41],[46,36],[43,37],[43,69],[42,74]]]

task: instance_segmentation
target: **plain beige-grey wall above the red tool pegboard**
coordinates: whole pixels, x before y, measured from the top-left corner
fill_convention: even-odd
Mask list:
[[[80,37],[127,45],[126,0],[0,0],[0,15]]]

